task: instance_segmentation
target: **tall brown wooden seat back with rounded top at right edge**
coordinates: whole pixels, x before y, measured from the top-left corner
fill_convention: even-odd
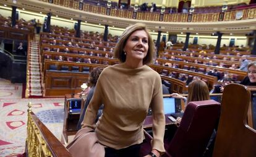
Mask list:
[[[250,91],[231,83],[224,88],[213,157],[256,156],[256,130],[247,125]]]

